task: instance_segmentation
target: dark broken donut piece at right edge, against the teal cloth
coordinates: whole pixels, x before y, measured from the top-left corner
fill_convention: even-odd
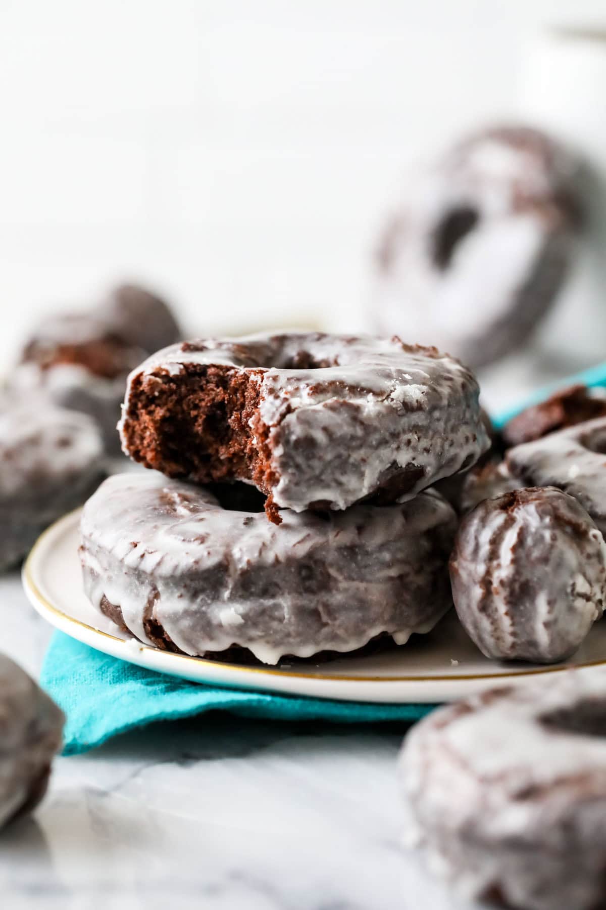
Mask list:
[[[596,417],[606,417],[604,390],[570,386],[522,410],[503,427],[502,436],[509,449]]]

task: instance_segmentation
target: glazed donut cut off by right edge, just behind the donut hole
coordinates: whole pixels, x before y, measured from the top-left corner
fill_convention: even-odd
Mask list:
[[[526,442],[505,455],[507,468],[525,486],[558,487],[589,512],[606,534],[606,417]]]

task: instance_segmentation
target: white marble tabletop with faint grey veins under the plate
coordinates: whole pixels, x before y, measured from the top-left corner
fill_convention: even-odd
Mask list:
[[[2,649],[37,673],[50,630],[0,580]],[[6,910],[468,910],[402,848],[397,729],[156,724],[59,758],[0,834]]]

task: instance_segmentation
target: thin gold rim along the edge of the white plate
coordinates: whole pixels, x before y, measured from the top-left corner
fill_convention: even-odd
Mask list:
[[[45,540],[52,533],[54,533],[57,527],[60,524],[66,524],[71,528],[70,520],[74,520],[77,515],[80,514],[82,509],[75,509],[74,511],[67,512],[57,521],[54,521],[53,524],[49,525],[45,531],[42,532],[40,537],[35,541],[34,546],[32,547],[27,559],[24,562],[22,570],[22,580],[24,587],[28,589],[31,594],[35,597],[35,600],[40,603],[46,611],[54,613],[55,616],[60,617],[60,619],[67,623],[68,625],[74,625],[81,629],[85,629],[87,632],[94,632],[94,635],[101,635],[103,638],[108,638],[112,642],[118,642],[119,644],[127,645],[132,647],[131,642],[135,642],[139,651],[141,652],[151,652],[155,655],[158,655],[161,660],[168,660],[173,662],[175,659],[178,661],[185,662],[194,662],[199,665],[201,663],[208,664],[209,666],[217,667],[222,670],[229,670],[231,672],[239,673],[262,673],[267,676],[279,676],[279,677],[294,677],[296,679],[305,679],[305,680],[330,680],[332,682],[465,682],[472,680],[502,680],[502,679],[520,679],[525,676],[536,676],[544,673],[558,673],[565,672],[567,670],[582,670],[585,668],[606,666],[606,658],[601,661],[588,661],[584,663],[574,663],[566,664],[563,666],[549,666],[549,667],[534,667],[532,669],[523,670],[520,672],[497,672],[497,673],[461,673],[461,674],[449,674],[449,675],[432,675],[432,676],[363,676],[363,675],[346,675],[342,673],[304,673],[304,672],[293,672],[291,670],[279,670],[273,669],[272,667],[248,667],[242,666],[239,663],[227,663],[222,661],[209,661],[204,657],[192,657],[189,654],[180,654],[174,652],[162,651],[160,648],[154,648],[144,642],[139,642],[136,639],[119,638],[117,635],[112,635],[110,632],[103,632],[101,629],[95,629],[94,626],[89,625],[87,622],[82,622],[82,620],[76,620],[73,616],[70,616],[68,613],[59,610],[54,603],[51,603],[40,591],[40,588],[36,584],[33,572],[32,565],[34,564],[35,559],[37,558],[38,552],[43,548]],[[606,622],[606,620],[604,620]],[[66,632],[65,634],[69,634]],[[71,636],[80,641],[77,635]],[[94,645],[90,645],[94,647]],[[102,649],[99,649],[102,650]],[[343,654],[343,659],[346,659],[346,654]],[[124,655],[124,659],[128,660],[128,657]]]

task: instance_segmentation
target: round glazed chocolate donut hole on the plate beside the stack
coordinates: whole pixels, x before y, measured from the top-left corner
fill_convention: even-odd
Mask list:
[[[487,657],[561,661],[604,611],[606,543],[561,490],[514,490],[463,518],[451,582],[457,615]]]

